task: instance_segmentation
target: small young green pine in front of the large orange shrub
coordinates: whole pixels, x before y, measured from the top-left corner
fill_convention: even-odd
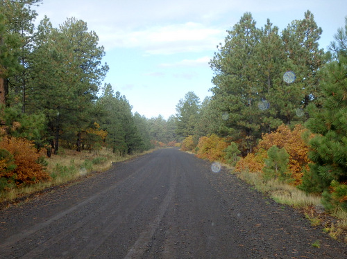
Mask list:
[[[267,151],[268,159],[265,159],[265,166],[263,168],[264,179],[280,179],[280,181],[287,181],[290,176],[288,174],[289,154],[285,148],[278,148],[273,145]]]

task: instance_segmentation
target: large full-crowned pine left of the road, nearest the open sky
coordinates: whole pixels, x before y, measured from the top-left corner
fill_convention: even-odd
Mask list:
[[[74,18],[59,29],[45,18],[38,30],[31,62],[33,109],[46,114],[55,152],[60,132],[81,150],[81,131],[90,125],[88,114],[108,71],[101,64],[103,47],[97,46],[99,38],[94,32],[87,32],[87,24]]]

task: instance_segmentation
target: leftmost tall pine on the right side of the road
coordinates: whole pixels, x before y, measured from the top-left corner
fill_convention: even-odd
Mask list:
[[[218,109],[226,116],[224,123],[228,135],[244,140],[244,149],[251,152],[260,136],[260,110],[262,85],[257,83],[259,63],[255,50],[261,31],[255,27],[251,13],[246,12],[232,30],[227,30],[225,43],[220,44],[210,66],[215,75],[212,88]],[[226,115],[225,115],[226,114]]]

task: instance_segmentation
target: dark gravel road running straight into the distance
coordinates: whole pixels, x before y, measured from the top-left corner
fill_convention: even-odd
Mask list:
[[[165,149],[0,211],[0,258],[347,258],[347,249],[226,170]]]

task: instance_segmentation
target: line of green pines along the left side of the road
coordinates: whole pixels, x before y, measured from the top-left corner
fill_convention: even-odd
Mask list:
[[[60,146],[120,155],[175,138],[171,119],[133,114],[126,96],[105,83],[99,37],[74,17],[54,28],[33,8],[42,0],[0,1],[0,105],[3,134],[57,154]],[[17,125],[17,126],[14,126]]]

